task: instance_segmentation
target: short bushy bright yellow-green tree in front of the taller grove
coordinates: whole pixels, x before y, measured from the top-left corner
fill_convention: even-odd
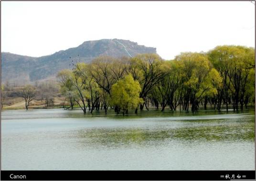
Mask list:
[[[117,106],[117,114],[122,110],[123,115],[128,113],[128,108],[136,109],[143,102],[139,98],[141,91],[138,81],[134,81],[132,75],[126,75],[112,86],[111,102]]]

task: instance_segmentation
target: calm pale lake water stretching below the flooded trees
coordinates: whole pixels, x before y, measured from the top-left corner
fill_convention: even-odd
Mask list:
[[[255,112],[3,111],[1,170],[255,170]]]

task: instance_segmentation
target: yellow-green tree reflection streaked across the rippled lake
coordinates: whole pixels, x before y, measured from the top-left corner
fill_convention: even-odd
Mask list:
[[[243,124],[230,126],[199,126],[189,128],[163,129],[130,129],[130,128],[100,128],[78,130],[75,138],[86,146],[130,146],[157,145],[170,140],[177,141],[254,141],[254,124],[245,121]]]

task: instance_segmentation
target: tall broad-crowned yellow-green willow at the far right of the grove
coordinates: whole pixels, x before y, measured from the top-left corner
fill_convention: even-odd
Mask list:
[[[219,99],[224,97],[226,111],[230,96],[234,111],[238,110],[239,102],[243,109],[248,77],[255,71],[255,49],[234,45],[217,46],[209,52],[209,59],[223,78]]]

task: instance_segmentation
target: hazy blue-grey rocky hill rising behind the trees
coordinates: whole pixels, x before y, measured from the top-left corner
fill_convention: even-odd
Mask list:
[[[25,84],[36,80],[54,78],[58,71],[70,68],[70,60],[91,62],[100,55],[113,57],[134,56],[139,53],[156,53],[156,48],[119,39],[86,41],[75,48],[62,50],[42,57],[29,57],[1,53],[1,81]]]

